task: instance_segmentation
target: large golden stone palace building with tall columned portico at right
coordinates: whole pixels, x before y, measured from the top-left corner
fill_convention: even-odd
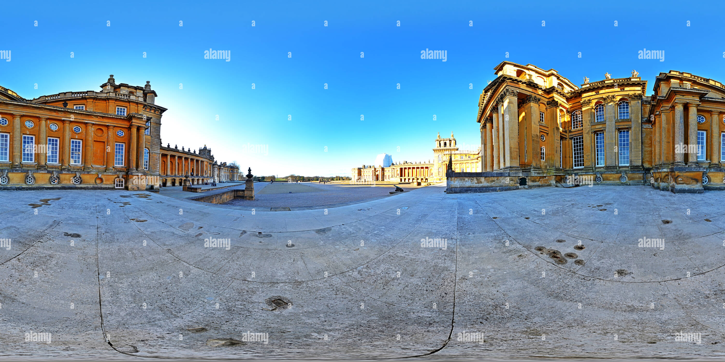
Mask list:
[[[449,192],[537,186],[652,185],[673,193],[723,190],[725,87],[671,70],[574,85],[556,70],[502,62],[476,119],[483,171],[450,170]]]

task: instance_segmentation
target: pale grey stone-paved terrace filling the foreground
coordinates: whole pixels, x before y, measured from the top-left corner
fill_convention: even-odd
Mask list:
[[[254,213],[4,191],[0,355],[724,357],[725,193],[443,191]]]

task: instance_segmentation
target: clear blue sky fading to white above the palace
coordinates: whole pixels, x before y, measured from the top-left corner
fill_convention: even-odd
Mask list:
[[[479,95],[505,60],[554,68],[577,85],[636,69],[647,95],[668,70],[725,82],[724,7],[692,4],[12,1],[0,85],[36,98],[99,90],[109,74],[149,80],[169,109],[164,144],[206,144],[254,174],[349,175],[378,153],[432,159],[436,132],[478,145]],[[204,59],[210,48],[231,51],[231,61]],[[446,50],[447,62],[421,59],[423,49]],[[665,51],[664,62],[637,59],[642,49]]]

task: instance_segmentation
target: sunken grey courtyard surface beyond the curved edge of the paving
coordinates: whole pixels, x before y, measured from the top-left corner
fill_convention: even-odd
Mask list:
[[[354,201],[364,202],[372,198],[380,198],[390,196],[390,191],[395,190],[393,185],[375,186],[355,186],[346,184],[305,184],[313,188],[319,188],[318,192],[306,193],[276,193],[254,195],[256,200],[248,201],[236,198],[232,201],[224,203],[224,205],[233,206],[260,206],[260,207],[299,207],[299,206],[320,206],[331,205],[334,203],[349,203]],[[274,185],[272,185],[274,187]],[[403,190],[413,190],[415,188],[403,187]]]

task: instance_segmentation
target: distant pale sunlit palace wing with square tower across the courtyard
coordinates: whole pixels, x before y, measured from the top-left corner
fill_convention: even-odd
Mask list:
[[[442,182],[445,170],[452,156],[453,169],[456,172],[480,172],[481,148],[475,151],[459,150],[455,137],[441,138],[440,133],[433,148],[433,161],[399,162],[389,167],[382,165],[363,165],[352,169],[352,182]]]

